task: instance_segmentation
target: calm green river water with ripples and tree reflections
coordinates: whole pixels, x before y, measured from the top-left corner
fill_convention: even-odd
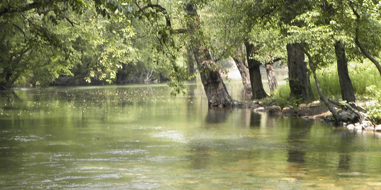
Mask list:
[[[233,97],[240,84],[228,83]],[[0,189],[381,189],[381,139],[208,110],[200,85],[19,89],[0,98]]]

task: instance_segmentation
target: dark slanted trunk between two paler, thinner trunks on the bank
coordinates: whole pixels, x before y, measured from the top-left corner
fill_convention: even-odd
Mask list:
[[[255,47],[253,44],[249,43],[248,41],[245,41],[245,47],[246,47],[247,65],[249,67],[249,74],[250,74],[251,92],[253,93],[252,99],[266,98],[268,95],[266,91],[264,91],[263,84],[262,84],[261,71],[259,70],[259,66],[261,65],[261,62],[251,57],[251,55],[255,53],[255,49],[254,49]]]

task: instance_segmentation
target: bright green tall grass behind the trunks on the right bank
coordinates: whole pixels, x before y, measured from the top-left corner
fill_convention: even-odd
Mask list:
[[[357,100],[367,102],[368,114],[373,122],[381,123],[381,77],[373,63],[350,63],[348,65],[349,76]],[[317,71],[320,87],[326,97],[341,98],[339,76],[336,65],[330,65]],[[314,78],[311,76],[312,91],[315,99],[319,99]],[[272,98],[278,99],[280,106],[295,106],[298,100],[289,98],[290,87],[288,84],[280,85]]]

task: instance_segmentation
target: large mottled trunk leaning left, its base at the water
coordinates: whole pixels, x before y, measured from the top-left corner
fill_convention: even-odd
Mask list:
[[[232,97],[218,71],[216,62],[211,59],[209,49],[202,41],[200,30],[200,17],[193,4],[186,6],[187,27],[191,35],[191,48],[200,72],[202,84],[208,98],[209,107],[230,107],[234,105]]]

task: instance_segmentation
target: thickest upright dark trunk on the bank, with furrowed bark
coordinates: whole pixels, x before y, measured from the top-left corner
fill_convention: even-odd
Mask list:
[[[290,97],[306,101],[311,98],[309,93],[311,84],[309,84],[307,67],[304,63],[304,52],[300,46],[300,43],[287,44],[288,81]]]

